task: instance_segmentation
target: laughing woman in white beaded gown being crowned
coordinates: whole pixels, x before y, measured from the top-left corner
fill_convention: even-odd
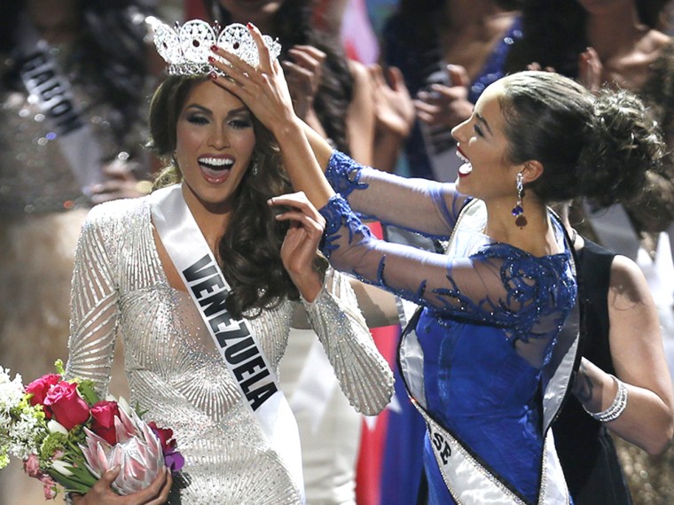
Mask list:
[[[282,447],[296,436],[294,418],[281,427],[281,408],[270,436],[258,416],[266,398],[263,388],[255,394],[255,377],[260,370],[278,373],[288,332],[302,313],[359,411],[375,414],[386,406],[391,370],[348,279],[325,272],[317,257],[320,216],[289,228],[274,219],[266,202],[289,185],[273,137],[247,107],[208,74],[185,70],[155,93],[150,126],[154,151],[171,159],[160,178],[160,185],[169,185],[91,211],[75,258],[67,374],[91,378],[105,391],[121,335],[131,403],[146,411],[146,419],[173,429],[185,457],[185,486],[169,503],[301,503],[302,473],[294,465],[299,447]],[[184,224],[184,215],[192,224]],[[186,238],[187,229],[200,239]],[[203,251],[229,286],[209,275],[200,281],[208,286],[192,289],[191,270],[181,268],[176,255],[203,258]],[[195,276],[203,271],[192,269]],[[219,306],[205,301],[204,293],[217,298],[224,291]],[[223,315],[229,323],[211,331]],[[235,323],[245,324],[252,339],[225,337],[239,330]],[[242,361],[255,353],[263,360],[251,358],[232,373],[218,344],[225,361],[228,352]],[[74,501],[119,499],[106,486],[108,477]],[[133,499],[160,502],[165,492]]]

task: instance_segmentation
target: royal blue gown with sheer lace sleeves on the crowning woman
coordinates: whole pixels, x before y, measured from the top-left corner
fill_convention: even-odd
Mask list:
[[[470,198],[453,184],[407,179],[360,167],[340,152],[326,176],[339,192],[321,209],[324,252],[335,268],[423,307],[427,411],[525,502],[541,474],[541,369],[576,301],[570,253],[535,257],[496,243],[481,226],[459,225],[447,255],[372,237],[361,216],[447,239]],[[341,196],[340,196],[341,195]],[[342,197],[348,198],[345,201]],[[430,503],[454,502],[426,438]],[[475,501],[479,502],[479,501]]]

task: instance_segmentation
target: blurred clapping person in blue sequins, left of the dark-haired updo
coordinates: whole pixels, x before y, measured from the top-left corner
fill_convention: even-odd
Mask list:
[[[383,30],[382,60],[400,68],[418,121],[404,175],[453,182],[459,166],[450,130],[466,120],[519,36],[513,0],[401,0]]]

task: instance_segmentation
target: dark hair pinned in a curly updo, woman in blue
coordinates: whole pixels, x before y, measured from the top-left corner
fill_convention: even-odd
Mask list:
[[[513,163],[538,160],[544,173],[526,187],[542,201],[591,198],[600,206],[638,198],[664,155],[646,106],[624,90],[595,97],[560,74],[505,77],[500,100]]]

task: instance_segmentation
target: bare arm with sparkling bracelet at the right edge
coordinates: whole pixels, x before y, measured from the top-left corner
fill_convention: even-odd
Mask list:
[[[607,428],[649,454],[662,453],[674,434],[672,386],[653,297],[639,267],[616,256],[608,291],[609,345],[627,407]],[[617,392],[612,377],[583,360],[574,392],[591,412],[608,408]]]

